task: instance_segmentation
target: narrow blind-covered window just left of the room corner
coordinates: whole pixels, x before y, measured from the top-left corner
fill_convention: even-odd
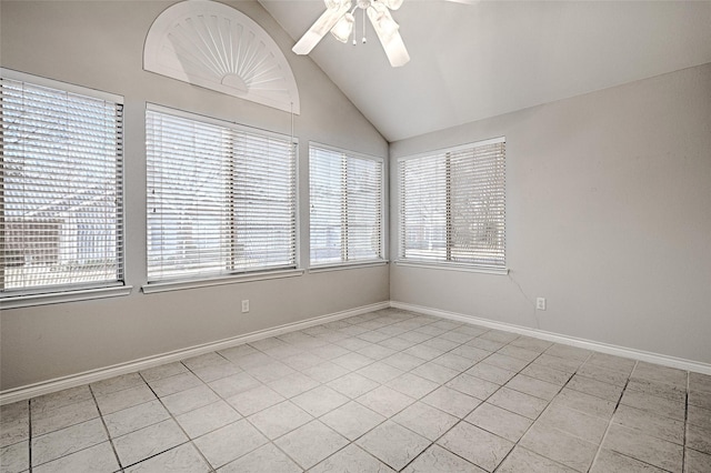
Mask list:
[[[311,264],[382,260],[383,162],[311,145]]]

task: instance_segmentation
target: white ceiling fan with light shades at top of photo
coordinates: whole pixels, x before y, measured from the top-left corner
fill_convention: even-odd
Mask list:
[[[326,11],[297,42],[292,51],[297,54],[308,54],[329,31],[337,40],[348,42],[356,23],[353,13],[356,10],[361,9],[363,10],[363,17],[368,14],[368,18],[370,18],[370,22],[385,50],[390,64],[393,68],[403,66],[410,60],[410,54],[408,54],[408,50],[398,31],[400,27],[390,14],[390,10],[399,9],[402,6],[402,1],[356,0],[356,6],[353,7],[351,0],[324,0]],[[363,30],[364,28],[363,23]],[[363,42],[365,42],[364,34]],[[356,44],[354,38],[353,44]]]

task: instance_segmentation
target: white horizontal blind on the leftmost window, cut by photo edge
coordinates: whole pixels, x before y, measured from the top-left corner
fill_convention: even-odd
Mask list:
[[[123,105],[3,74],[0,292],[123,280]],[[10,74],[11,76],[11,74]],[[44,83],[51,82],[52,87]]]

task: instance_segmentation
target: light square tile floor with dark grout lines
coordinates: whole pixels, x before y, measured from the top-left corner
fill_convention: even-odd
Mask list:
[[[0,471],[711,472],[711,376],[383,310],[1,407]]]

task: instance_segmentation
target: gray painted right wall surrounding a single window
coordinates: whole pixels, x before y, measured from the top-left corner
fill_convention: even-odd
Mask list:
[[[391,143],[391,214],[397,158],[500,135],[510,274],[393,264],[391,300],[711,363],[711,64]]]

